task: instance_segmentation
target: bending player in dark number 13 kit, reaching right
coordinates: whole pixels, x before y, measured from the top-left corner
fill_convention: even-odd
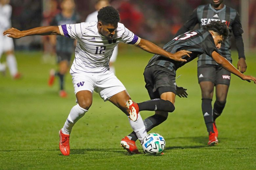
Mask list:
[[[179,50],[187,50],[192,52],[190,57],[184,56],[186,62],[177,62],[172,59],[165,59],[162,56],[154,55],[148,62],[144,70],[144,78],[146,89],[152,100],[138,103],[139,111],[155,110],[155,115],[146,118],[143,122],[147,132],[153,127],[158,126],[167,119],[168,112],[174,111],[174,102],[176,96],[176,70],[197,58],[201,54],[211,56],[222,67],[231,73],[239,76],[243,80],[253,80],[256,84],[256,78],[253,76],[245,76],[237,70],[227,59],[222,57],[219,52],[221,43],[228,35],[226,25],[220,21],[212,21],[205,25],[204,29],[182,34],[172,41],[164,45],[163,49],[175,53]],[[184,92],[185,89],[183,89]],[[180,93],[180,92],[179,92]],[[182,94],[183,95],[183,94]],[[137,140],[135,132],[125,136],[121,141],[123,146],[130,153],[139,153],[135,141]],[[214,132],[210,133],[210,145],[218,143],[218,139]]]

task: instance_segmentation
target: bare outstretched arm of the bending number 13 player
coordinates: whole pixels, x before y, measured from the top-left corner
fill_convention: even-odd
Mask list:
[[[242,80],[247,80],[248,82],[250,82],[250,80],[254,81],[254,83],[256,84],[256,78],[253,76],[246,76],[243,73],[241,73],[239,70],[237,70],[227,59],[225,59],[224,57],[222,57],[219,53],[217,53],[216,51],[213,51],[212,53],[212,58],[218,63],[220,64],[223,68],[225,68],[226,70],[230,71],[231,73],[233,73],[234,75],[240,77]]]

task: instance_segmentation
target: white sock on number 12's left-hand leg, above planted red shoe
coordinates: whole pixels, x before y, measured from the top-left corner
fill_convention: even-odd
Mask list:
[[[75,125],[75,123],[81,118],[83,117],[83,115],[85,114],[85,112],[87,112],[88,110],[85,110],[83,108],[81,108],[78,104],[75,105],[69,113],[69,116],[63,126],[63,128],[61,129],[62,133],[64,134],[70,134],[72,127]]]

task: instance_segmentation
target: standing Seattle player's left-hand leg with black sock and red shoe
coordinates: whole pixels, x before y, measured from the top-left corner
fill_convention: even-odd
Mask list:
[[[205,125],[209,133],[208,145],[218,144],[218,139],[214,132],[213,115],[212,115],[212,97],[214,83],[211,81],[202,81],[199,83],[202,92],[202,111]]]

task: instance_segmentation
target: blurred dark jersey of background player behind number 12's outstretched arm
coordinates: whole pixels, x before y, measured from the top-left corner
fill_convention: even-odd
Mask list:
[[[59,13],[53,18],[51,25],[58,26],[65,24],[76,24],[79,23],[79,21],[80,18],[75,13],[70,18],[64,17],[61,13]],[[73,53],[74,40],[64,36],[57,36],[56,51]]]

